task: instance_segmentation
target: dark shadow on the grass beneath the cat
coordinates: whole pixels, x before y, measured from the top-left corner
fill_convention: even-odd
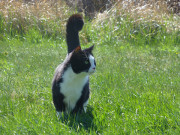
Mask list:
[[[94,116],[92,111],[93,108],[89,106],[87,107],[86,113],[83,112],[77,115],[64,114],[64,116],[60,118],[60,121],[74,129],[76,132],[81,130],[85,130],[87,132],[90,132],[90,130],[97,131],[97,126],[93,121]]]

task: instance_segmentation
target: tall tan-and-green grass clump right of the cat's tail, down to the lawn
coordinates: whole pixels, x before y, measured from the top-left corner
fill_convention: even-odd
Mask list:
[[[128,40],[136,45],[179,44],[179,16],[169,14],[163,0],[142,3],[118,1],[112,9],[97,16],[94,26],[109,29],[112,38]]]

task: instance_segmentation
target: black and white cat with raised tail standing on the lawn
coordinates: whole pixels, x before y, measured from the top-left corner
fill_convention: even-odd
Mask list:
[[[81,15],[72,15],[66,25],[68,54],[55,71],[52,82],[53,103],[58,114],[86,111],[90,89],[89,75],[95,72],[94,46],[81,50],[79,31],[84,25]]]

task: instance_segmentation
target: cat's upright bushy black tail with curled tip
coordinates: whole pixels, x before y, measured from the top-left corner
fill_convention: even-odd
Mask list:
[[[66,42],[68,53],[72,52],[76,47],[80,46],[79,31],[84,25],[80,14],[73,14],[67,21],[66,25]]]

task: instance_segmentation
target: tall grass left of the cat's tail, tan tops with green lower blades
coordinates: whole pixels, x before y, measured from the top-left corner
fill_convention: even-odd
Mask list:
[[[35,28],[42,34],[61,33],[67,17],[72,11],[62,1],[39,0],[38,2],[22,2],[16,0],[0,1],[1,23],[5,33],[26,34]]]

